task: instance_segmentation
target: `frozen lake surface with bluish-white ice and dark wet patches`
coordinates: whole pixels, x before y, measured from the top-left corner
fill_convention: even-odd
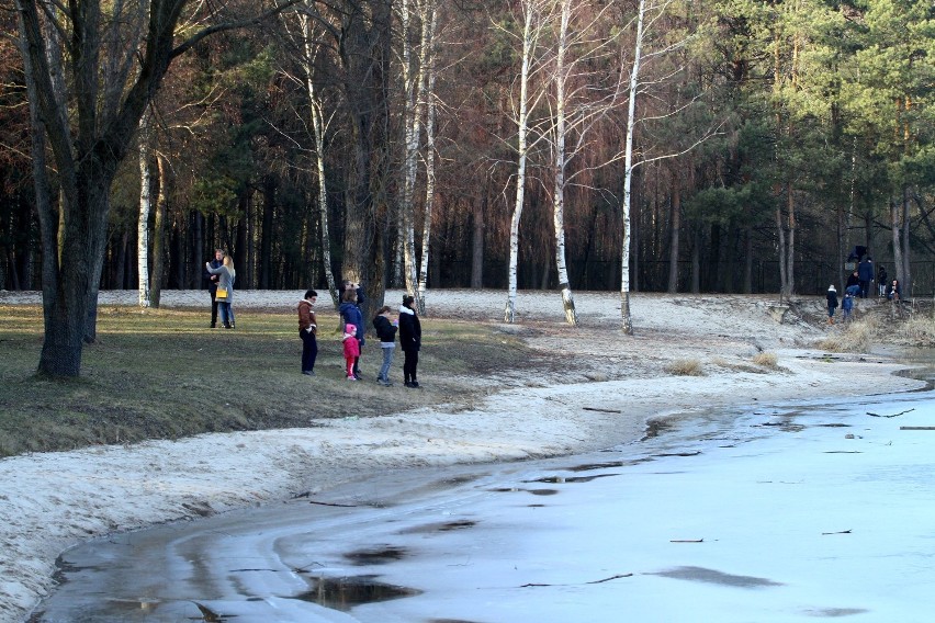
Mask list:
[[[66,552],[32,621],[927,622],[930,428],[920,392],[384,473]]]

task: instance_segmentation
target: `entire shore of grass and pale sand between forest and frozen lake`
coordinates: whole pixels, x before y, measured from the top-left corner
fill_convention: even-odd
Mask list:
[[[146,314],[135,293],[102,292],[85,375],[56,384],[32,375],[38,294],[0,292],[0,424],[46,438],[0,460],[0,621],[23,620],[54,586],[58,555],[87,539],[375,471],[598,450],[701,408],[914,388],[874,340],[928,339],[897,331],[876,299],[856,314],[874,322],[829,326],[823,297],[633,294],[627,336],[613,293],[577,293],[572,328],[556,293],[520,293],[518,320],[505,325],[503,292],[437,291],[423,318],[421,388],[409,389],[402,353],[394,387],[371,378],[374,344],[364,381],[345,381],[328,331],[317,375],[298,374],[300,297],[237,292],[237,329],[224,331],[204,328],[203,292],[165,292]],[[319,319],[337,327],[333,312]],[[49,441],[59,420],[67,439]],[[74,450],[26,452],[56,443]]]

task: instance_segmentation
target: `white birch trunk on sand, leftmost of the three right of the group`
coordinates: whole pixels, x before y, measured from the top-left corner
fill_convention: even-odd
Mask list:
[[[509,290],[507,292],[507,303],[504,309],[504,322],[516,321],[516,295],[517,280],[516,269],[519,260],[519,219],[522,216],[523,193],[526,190],[526,159],[528,156],[527,146],[527,124],[529,112],[529,70],[532,60],[532,20],[533,8],[527,3],[526,19],[522,27],[522,69],[520,71],[519,84],[519,116],[517,118],[517,166],[516,166],[516,201],[512,208],[512,218],[509,224],[509,265],[507,275],[509,281]]]

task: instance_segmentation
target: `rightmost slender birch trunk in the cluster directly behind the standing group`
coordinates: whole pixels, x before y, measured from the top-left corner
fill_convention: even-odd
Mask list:
[[[423,71],[426,75],[424,92],[421,101],[425,102],[426,111],[426,206],[425,220],[423,222],[423,257],[419,261],[419,283],[416,294],[419,315],[425,316],[426,313],[426,284],[428,282],[428,262],[429,249],[431,248],[431,211],[435,204],[435,121],[436,121],[436,102],[435,102],[435,29],[438,20],[438,9],[435,0],[427,0],[423,14]]]

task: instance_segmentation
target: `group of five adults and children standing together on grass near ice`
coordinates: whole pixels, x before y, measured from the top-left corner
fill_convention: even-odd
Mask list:
[[[348,381],[360,381],[360,356],[365,344],[363,315],[361,305],[364,296],[359,284],[345,281],[339,290],[341,304],[338,308],[341,318],[341,338],[345,372]],[[318,355],[316,335],[318,325],[315,318],[314,306],[318,293],[314,290],[305,292],[305,297],[298,302],[298,336],[302,339],[302,374],[315,375],[315,359]],[[423,329],[419,317],[413,305],[415,298],[410,295],[403,296],[403,305],[399,307],[398,318],[393,318],[392,309],[384,305],[376,312],[372,320],[376,338],[380,340],[380,350],[383,362],[376,375],[376,382],[385,387],[393,383],[390,381],[390,367],[393,365],[393,355],[396,349],[396,332],[399,333],[399,346],[405,356],[403,362],[403,378],[406,387],[416,388],[418,382],[419,349],[421,348]]]

